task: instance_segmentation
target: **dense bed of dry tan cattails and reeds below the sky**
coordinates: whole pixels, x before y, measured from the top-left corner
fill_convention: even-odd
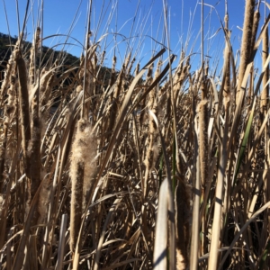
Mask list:
[[[261,29],[259,19],[247,0],[236,60],[226,12],[220,76],[169,42],[144,67],[130,51],[104,69],[89,23],[72,67],[65,53],[42,61],[40,26],[30,53],[21,35],[1,82],[0,268],[268,269],[269,17]]]

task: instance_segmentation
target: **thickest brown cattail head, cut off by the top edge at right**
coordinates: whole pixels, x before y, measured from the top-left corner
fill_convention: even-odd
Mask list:
[[[238,96],[241,91],[242,81],[245,75],[245,70],[247,68],[248,61],[250,59],[252,34],[253,34],[252,31],[253,31],[254,7],[255,7],[255,0],[246,0],[240,64],[238,69],[238,87],[236,94],[236,103],[238,103]]]

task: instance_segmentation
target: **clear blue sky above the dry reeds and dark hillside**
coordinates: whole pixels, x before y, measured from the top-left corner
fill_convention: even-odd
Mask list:
[[[26,7],[26,0],[18,0],[20,27],[23,26],[23,17]],[[31,0],[33,6],[32,13],[28,17],[27,33],[28,40],[32,39],[33,24],[36,25],[38,19],[38,4],[40,0]],[[88,0],[44,0],[44,24],[43,24],[43,38],[53,34],[67,34],[70,30],[72,21],[74,20],[76,10],[80,5],[76,16],[76,23],[70,35],[84,43],[85,40],[85,25],[86,25],[86,11]],[[224,0],[206,0],[204,4],[215,6],[220,19],[223,21],[225,4]],[[4,0],[6,6],[6,13],[9,23],[11,35],[18,35],[16,1]],[[200,25],[201,25],[201,4],[197,0],[167,0],[169,27],[170,27],[170,42],[171,49],[174,53],[179,55],[181,46],[184,46],[185,41],[190,37],[187,53],[190,53],[193,43],[193,52],[199,53],[200,46]],[[139,4],[139,5],[138,5]],[[4,14],[3,0],[0,7],[0,31],[8,33],[7,23]],[[241,31],[238,27],[243,25],[244,16],[244,0],[228,0],[229,6],[229,28],[232,31],[232,42],[239,48]],[[103,11],[102,11],[103,6]],[[137,8],[138,7],[138,8]],[[262,10],[264,7],[262,6]],[[137,14],[136,14],[137,11]],[[131,31],[134,16],[136,14],[134,27]],[[118,63],[123,58],[128,46],[132,49],[132,54],[136,54],[141,62],[147,61],[154,50],[160,49],[158,43],[152,40],[166,44],[164,41],[163,29],[164,18],[163,1],[162,0],[93,0],[93,10],[91,16],[91,31],[94,36],[92,40],[99,40],[103,36],[101,42],[102,49],[106,49],[107,61],[111,65],[113,49],[118,54]],[[211,59],[218,59],[222,57],[222,50],[224,46],[224,35],[222,31],[217,34],[216,31],[220,29],[220,21],[216,12],[210,6],[204,6],[204,35],[205,35],[205,54],[209,54]],[[263,16],[263,15],[262,15]],[[98,27],[99,18],[101,19],[100,27]],[[110,21],[108,25],[107,23]],[[190,23],[192,22],[191,28]],[[121,35],[115,35],[114,33]],[[143,38],[139,38],[143,37]],[[129,39],[129,37],[137,37]],[[127,39],[125,39],[127,38]],[[64,42],[66,38],[55,37],[45,40],[46,46],[54,46],[58,43]],[[197,39],[197,41],[196,41]],[[67,42],[75,43],[75,40],[69,39]],[[80,45],[65,47],[68,52],[79,56],[82,52]],[[58,46],[61,49],[61,46]]]

